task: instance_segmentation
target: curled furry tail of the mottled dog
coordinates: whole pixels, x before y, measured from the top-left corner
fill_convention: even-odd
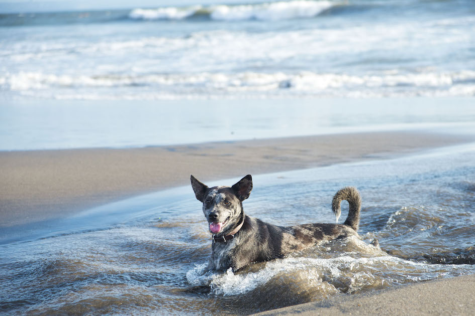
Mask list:
[[[361,196],[359,195],[358,190],[355,187],[345,187],[335,194],[332,201],[332,211],[333,213],[335,213],[337,221],[338,218],[340,218],[340,203],[343,200],[348,201],[350,205],[348,210],[348,217],[346,218],[346,221],[343,224],[348,225],[355,231],[358,231],[359,211],[361,210]]]

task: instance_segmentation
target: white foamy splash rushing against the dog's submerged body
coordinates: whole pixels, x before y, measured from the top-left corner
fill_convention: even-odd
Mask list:
[[[350,237],[317,246],[296,257],[248,266],[238,273],[233,273],[232,269],[208,271],[206,264],[198,265],[187,271],[186,279],[194,286],[209,286],[211,292],[219,296],[243,295],[254,290],[275,295],[282,288],[297,287],[298,295],[304,294],[314,300],[339,292],[358,293],[434,276],[458,275],[458,268],[390,256],[380,248]],[[470,267],[461,267],[464,268]]]

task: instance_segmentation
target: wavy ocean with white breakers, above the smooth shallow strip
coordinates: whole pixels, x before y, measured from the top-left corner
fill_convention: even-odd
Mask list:
[[[475,94],[472,0],[206,3],[0,14],[0,99]]]

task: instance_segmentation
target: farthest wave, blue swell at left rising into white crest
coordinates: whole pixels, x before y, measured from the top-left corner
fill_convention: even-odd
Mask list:
[[[117,21],[279,21],[313,18],[348,4],[328,0],[291,0],[253,5],[196,5],[157,9],[0,14],[0,27],[110,23]]]

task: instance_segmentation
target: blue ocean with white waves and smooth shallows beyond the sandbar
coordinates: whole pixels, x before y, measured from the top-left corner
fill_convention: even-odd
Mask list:
[[[35,3],[0,3],[0,150],[475,121],[472,0]]]

